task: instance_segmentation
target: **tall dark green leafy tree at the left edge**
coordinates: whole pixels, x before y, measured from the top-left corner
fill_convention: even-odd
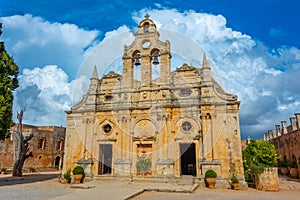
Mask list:
[[[2,24],[0,23],[0,35]],[[4,42],[0,42],[0,139],[9,135],[9,129],[13,126],[12,104],[13,91],[18,87],[17,76],[19,68],[14,59],[5,50]]]

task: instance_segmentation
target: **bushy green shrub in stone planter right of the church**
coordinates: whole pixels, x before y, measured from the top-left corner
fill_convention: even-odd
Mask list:
[[[251,140],[243,150],[246,181],[255,181],[258,173],[264,168],[275,167],[279,156],[271,142]]]

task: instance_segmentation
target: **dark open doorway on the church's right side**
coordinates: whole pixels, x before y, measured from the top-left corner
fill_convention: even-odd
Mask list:
[[[179,144],[181,175],[196,176],[196,149],[195,143]]]

